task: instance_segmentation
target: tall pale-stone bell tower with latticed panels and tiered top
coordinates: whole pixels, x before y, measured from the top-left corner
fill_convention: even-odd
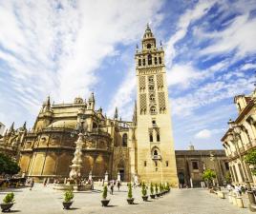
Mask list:
[[[164,51],[147,25],[136,50],[137,160],[140,181],[177,185],[173,133],[164,66]]]

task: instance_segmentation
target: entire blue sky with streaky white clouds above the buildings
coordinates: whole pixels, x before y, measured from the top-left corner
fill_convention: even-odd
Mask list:
[[[48,95],[96,94],[131,120],[146,23],[165,50],[177,149],[222,148],[236,94],[253,90],[255,1],[0,1],[0,121],[32,127]]]

